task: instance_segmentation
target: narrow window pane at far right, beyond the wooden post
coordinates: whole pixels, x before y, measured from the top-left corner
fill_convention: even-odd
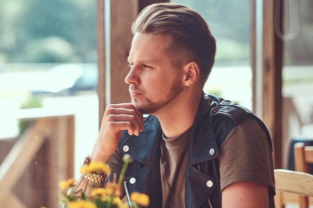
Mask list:
[[[294,170],[293,144],[313,145],[313,1],[283,2],[283,162]]]

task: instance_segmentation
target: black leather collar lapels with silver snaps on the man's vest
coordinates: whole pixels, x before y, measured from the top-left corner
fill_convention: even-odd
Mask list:
[[[211,109],[216,105],[217,103],[202,91],[189,141],[188,159],[191,165],[213,159],[218,155],[214,136],[211,131],[211,121],[208,119],[210,118]],[[159,121],[155,116],[149,115],[143,122],[143,132],[139,136],[128,136],[119,145],[119,151],[147,165],[158,154],[160,141],[161,128]],[[124,148],[125,146],[128,148]]]

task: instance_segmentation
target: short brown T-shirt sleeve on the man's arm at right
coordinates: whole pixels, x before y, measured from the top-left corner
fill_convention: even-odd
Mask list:
[[[265,184],[274,193],[271,144],[254,117],[245,117],[231,129],[218,161],[221,190],[235,182],[250,181]]]

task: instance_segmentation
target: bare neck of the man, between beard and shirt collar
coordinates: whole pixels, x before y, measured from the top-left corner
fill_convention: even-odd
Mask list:
[[[167,139],[178,137],[192,126],[200,99],[201,91],[181,92],[171,103],[154,114]]]

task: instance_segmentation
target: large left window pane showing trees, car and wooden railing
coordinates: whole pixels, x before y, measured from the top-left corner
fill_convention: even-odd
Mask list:
[[[79,174],[98,133],[96,0],[0,8],[0,173],[20,173],[1,193],[59,207],[58,181]],[[20,158],[6,157],[16,144]]]

